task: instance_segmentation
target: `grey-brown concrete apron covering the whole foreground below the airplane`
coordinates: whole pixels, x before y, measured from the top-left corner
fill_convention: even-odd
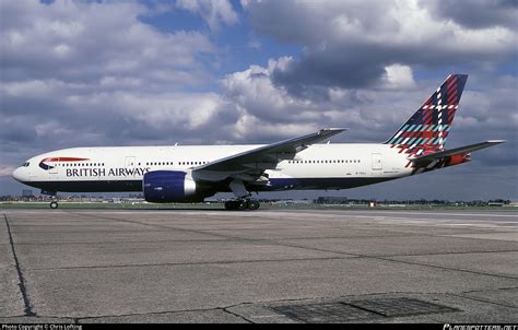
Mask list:
[[[0,323],[518,322],[517,212],[0,214]]]

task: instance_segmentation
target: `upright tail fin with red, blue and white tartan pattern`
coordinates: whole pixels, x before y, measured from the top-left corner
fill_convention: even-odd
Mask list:
[[[444,150],[468,74],[450,74],[385,143],[419,156]]]

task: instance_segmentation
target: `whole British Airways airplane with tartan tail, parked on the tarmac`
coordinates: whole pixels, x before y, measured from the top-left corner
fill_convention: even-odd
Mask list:
[[[140,191],[148,202],[202,202],[233,192],[226,210],[257,210],[251,192],[349,189],[471,161],[505,140],[450,150],[445,142],[467,74],[450,74],[384,143],[319,143],[345,131],[326,128],[272,144],[72,148],[27,160],[12,176],[56,193]]]

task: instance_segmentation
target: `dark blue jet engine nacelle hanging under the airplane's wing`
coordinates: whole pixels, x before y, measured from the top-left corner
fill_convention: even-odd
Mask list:
[[[197,197],[196,181],[179,170],[153,170],[144,174],[144,198],[153,203],[203,201]]]

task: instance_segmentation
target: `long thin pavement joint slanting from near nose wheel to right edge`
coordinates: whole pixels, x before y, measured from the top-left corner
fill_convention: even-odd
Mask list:
[[[82,213],[76,213],[76,214],[82,214]],[[89,214],[90,215],[90,214]],[[95,216],[95,215],[90,215],[91,217],[97,217],[97,219],[108,219],[113,221],[119,221],[119,222],[126,222],[126,223],[139,223],[143,225],[149,225],[149,226],[156,226],[156,225],[151,225],[151,224],[145,224],[141,222],[133,222],[129,220],[121,220],[121,219],[114,219],[114,217],[105,217],[105,216]],[[157,227],[163,227],[167,229],[178,229],[178,231],[184,231],[184,232],[192,232],[192,233],[201,233],[201,234],[210,234],[208,232],[203,231],[195,231],[195,229],[186,229],[186,228],[176,228],[172,226],[157,226]],[[225,237],[225,238],[233,238],[236,240],[244,240],[244,241],[261,241],[262,239],[252,239],[252,238],[243,238],[243,237],[233,237],[233,236],[227,236],[227,235],[219,235],[219,234],[210,234],[214,236],[220,236],[220,237]],[[432,235],[433,236],[433,235]],[[473,238],[470,238],[473,239]],[[262,240],[263,241],[263,240]],[[279,246],[284,246],[284,247],[295,247],[295,248],[302,248],[302,249],[307,249],[307,250],[314,250],[314,251],[323,251],[323,252],[332,252],[332,254],[339,254],[339,255],[346,255],[350,257],[361,257],[361,258],[367,258],[367,259],[377,259],[377,260],[385,260],[389,262],[399,262],[399,263],[407,263],[407,264],[419,264],[419,266],[424,266],[424,267],[429,267],[429,268],[436,268],[436,269],[443,269],[443,270],[452,270],[452,271],[460,271],[460,272],[468,272],[468,273],[473,273],[473,274],[479,274],[479,275],[485,275],[485,276],[495,276],[499,279],[511,279],[511,280],[518,280],[518,278],[515,276],[507,276],[507,275],[502,275],[502,274],[492,274],[492,273],[484,273],[484,272],[478,272],[478,271],[471,271],[471,270],[464,270],[464,269],[456,269],[456,268],[449,268],[449,267],[440,267],[440,266],[434,266],[434,264],[428,264],[428,263],[422,263],[422,262],[411,262],[411,261],[403,261],[403,260],[395,260],[390,259],[387,257],[376,257],[376,256],[366,256],[366,255],[358,255],[358,254],[346,254],[346,252],[341,252],[341,251],[332,251],[328,249],[319,249],[319,248],[310,248],[310,247],[305,247],[305,246],[297,246],[297,245],[285,245],[285,244],[276,244]],[[392,257],[393,258],[393,257]]]

